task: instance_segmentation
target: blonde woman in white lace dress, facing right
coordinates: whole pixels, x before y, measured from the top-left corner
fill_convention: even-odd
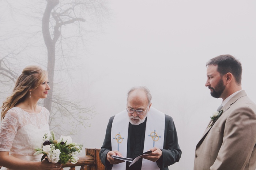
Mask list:
[[[60,170],[60,164],[33,155],[49,132],[49,111],[38,106],[47,97],[48,72],[38,66],[27,66],[16,81],[14,91],[4,102],[0,126],[1,170]]]

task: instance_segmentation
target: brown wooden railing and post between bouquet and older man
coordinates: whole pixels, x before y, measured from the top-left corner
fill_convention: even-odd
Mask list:
[[[99,150],[86,148],[86,155],[78,157],[79,160],[76,164],[68,162],[62,165],[62,167],[70,167],[69,170],[75,170],[76,166],[80,166],[80,170],[105,170],[105,166],[101,163],[101,159],[99,159]]]

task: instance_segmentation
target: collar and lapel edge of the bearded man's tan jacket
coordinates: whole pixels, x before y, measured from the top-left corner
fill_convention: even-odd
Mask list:
[[[227,109],[229,109],[229,107],[230,107],[232,104],[234,104],[238,99],[240,99],[240,98],[243,97],[243,96],[246,96],[246,93],[245,93],[244,90],[242,90],[242,91],[238,92],[236,95],[234,95],[234,96],[225,104],[225,106],[222,107],[223,112],[222,112],[221,115],[225,114],[225,112],[227,111]],[[221,118],[221,116],[220,116],[215,122],[217,122],[220,118]],[[210,121],[210,123],[208,124],[206,130],[205,130],[204,133],[203,133],[202,138],[201,138],[200,141],[197,143],[196,147],[199,146],[199,143],[201,143],[201,141],[203,141],[203,139],[206,137],[206,135],[208,134],[208,132],[210,131],[210,129],[212,128],[212,126],[215,124],[215,122],[209,127],[209,125],[210,125],[210,123],[211,123],[211,121]]]

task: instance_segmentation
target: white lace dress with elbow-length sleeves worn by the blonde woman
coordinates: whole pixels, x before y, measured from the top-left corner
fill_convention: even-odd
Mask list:
[[[10,151],[9,155],[27,161],[41,161],[35,148],[42,147],[43,136],[50,134],[49,111],[42,107],[38,114],[31,114],[19,107],[6,113],[0,126],[0,151]],[[10,170],[2,167],[1,170]]]

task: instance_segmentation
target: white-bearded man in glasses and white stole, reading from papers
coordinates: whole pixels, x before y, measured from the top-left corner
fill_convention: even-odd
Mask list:
[[[99,152],[101,162],[110,170],[168,170],[178,162],[181,149],[171,116],[151,107],[152,96],[147,87],[133,87],[127,93],[127,108],[112,116]],[[131,162],[112,158],[134,158],[151,150],[129,167]]]

